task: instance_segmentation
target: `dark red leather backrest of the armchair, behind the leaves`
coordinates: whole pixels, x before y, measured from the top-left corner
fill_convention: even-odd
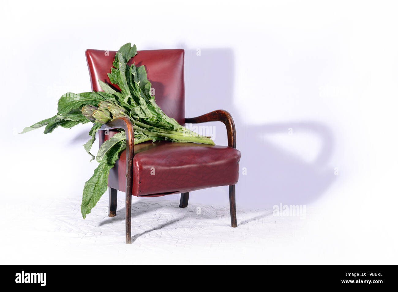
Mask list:
[[[108,84],[107,73],[117,51],[86,50],[91,88],[102,91],[98,79]],[[185,124],[184,50],[142,50],[128,64],[144,65],[154,89],[155,101],[163,112]],[[117,87],[117,86],[116,86]],[[118,88],[119,89],[119,88]]]

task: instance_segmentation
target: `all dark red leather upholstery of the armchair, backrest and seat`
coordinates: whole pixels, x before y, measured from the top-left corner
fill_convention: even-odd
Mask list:
[[[92,89],[101,91],[98,79],[109,83],[116,51],[86,50]],[[185,124],[184,51],[138,51],[129,64],[145,65],[155,89],[156,103],[170,117]],[[100,145],[117,130],[98,131]],[[239,176],[240,151],[227,146],[152,141],[134,146],[133,195],[162,196],[172,193],[234,185]],[[151,169],[153,168],[153,169]],[[151,172],[154,174],[151,174]],[[126,152],[109,172],[108,186],[126,191]]]

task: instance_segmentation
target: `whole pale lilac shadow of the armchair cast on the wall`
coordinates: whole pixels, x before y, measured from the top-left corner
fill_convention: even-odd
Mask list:
[[[322,196],[337,178],[334,166],[330,166],[336,143],[328,124],[322,120],[294,121],[283,118],[276,123],[249,124],[240,115],[243,112],[233,103],[233,50],[202,48],[199,56],[197,52],[185,49],[186,116],[225,109],[234,118],[237,149],[242,153],[240,177],[236,184],[238,206],[267,208],[281,202],[285,205],[307,204]],[[226,145],[225,126],[219,122],[207,125],[215,127],[216,144]],[[297,145],[293,153],[272,142],[272,135],[288,135],[289,128],[294,129],[294,135],[312,133],[320,138],[322,146],[314,161],[305,161],[300,156],[301,145]],[[203,201],[224,203],[224,199],[217,199],[217,188],[197,192]]]

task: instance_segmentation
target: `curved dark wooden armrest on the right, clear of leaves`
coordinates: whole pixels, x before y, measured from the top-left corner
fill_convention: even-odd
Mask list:
[[[185,119],[185,123],[188,124],[197,124],[197,123],[214,122],[214,121],[220,121],[225,124],[226,133],[228,136],[228,146],[236,148],[236,131],[235,131],[234,120],[232,119],[231,114],[226,110],[215,110],[213,112],[209,112],[207,114],[203,114],[195,118]]]

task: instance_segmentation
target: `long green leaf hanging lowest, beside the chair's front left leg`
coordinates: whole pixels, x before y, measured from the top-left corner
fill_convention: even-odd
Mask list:
[[[113,146],[98,167],[94,170],[92,177],[84,184],[81,211],[83,219],[91,212],[91,209],[97,204],[101,196],[107,189],[109,170],[115,165],[119,153],[125,149],[125,144],[119,142]]]

